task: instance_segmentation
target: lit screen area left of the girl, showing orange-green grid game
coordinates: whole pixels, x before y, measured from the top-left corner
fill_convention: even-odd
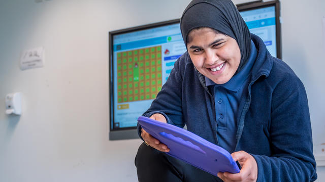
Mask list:
[[[179,23],[113,35],[113,128],[137,125],[185,51]]]

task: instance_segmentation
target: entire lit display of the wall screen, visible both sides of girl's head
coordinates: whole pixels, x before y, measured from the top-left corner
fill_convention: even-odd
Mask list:
[[[276,7],[241,9],[250,32],[277,57]],[[179,20],[110,32],[110,131],[134,129],[186,51]]]

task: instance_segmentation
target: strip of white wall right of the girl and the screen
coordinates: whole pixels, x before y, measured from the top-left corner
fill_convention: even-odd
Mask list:
[[[314,154],[325,161],[325,1],[281,1],[282,58],[303,81],[312,122]],[[320,162],[319,162],[320,163]],[[325,167],[317,167],[317,181],[325,181]]]

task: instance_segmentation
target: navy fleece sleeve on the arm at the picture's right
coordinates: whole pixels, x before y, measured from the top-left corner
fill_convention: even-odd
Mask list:
[[[272,157],[252,155],[257,181],[314,181],[317,178],[305,88],[288,76],[274,88],[271,106]]]

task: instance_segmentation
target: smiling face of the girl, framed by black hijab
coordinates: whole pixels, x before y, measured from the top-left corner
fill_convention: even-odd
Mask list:
[[[188,37],[188,54],[201,74],[217,84],[234,76],[240,63],[240,50],[234,38],[211,28],[193,29]]]

